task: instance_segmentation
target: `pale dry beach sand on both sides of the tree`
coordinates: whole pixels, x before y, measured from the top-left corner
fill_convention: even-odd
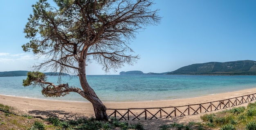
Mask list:
[[[256,93],[255,89],[246,89],[242,91],[235,91],[229,93],[220,93],[215,95],[207,95],[198,98],[188,98],[179,100],[164,100],[164,101],[148,101],[148,102],[104,102],[107,108],[152,108],[152,107],[165,107],[165,106],[183,106],[188,104],[200,104],[205,102],[212,102],[218,100],[225,100],[235,98],[242,95],[249,95]],[[184,93],[186,94],[186,93]],[[91,117],[94,115],[92,104],[89,102],[62,102],[53,100],[39,100],[32,98],[20,98],[14,96],[0,95],[0,104],[12,106],[16,108],[17,113],[25,113],[33,116],[47,117],[57,116],[62,119],[77,119],[81,117]],[[243,104],[240,106],[246,106]],[[190,115],[184,117],[175,117],[169,119],[152,119],[140,120],[145,125],[147,130],[158,129],[161,124],[169,124],[173,122],[188,123],[189,121],[200,122],[200,116]],[[137,123],[138,121],[129,121]]]

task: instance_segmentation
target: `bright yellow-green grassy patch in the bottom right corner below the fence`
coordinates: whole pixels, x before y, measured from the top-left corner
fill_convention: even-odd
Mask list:
[[[205,114],[201,116],[201,119],[206,126],[221,130],[247,130],[251,128],[255,130],[256,103],[249,103],[247,107],[240,106],[218,113]]]

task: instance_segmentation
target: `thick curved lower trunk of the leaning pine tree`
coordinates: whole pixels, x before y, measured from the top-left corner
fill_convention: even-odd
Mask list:
[[[96,120],[108,120],[109,117],[106,113],[106,106],[101,102],[101,100],[98,98],[94,90],[87,82],[85,74],[85,62],[80,62],[79,67],[80,84],[84,91],[85,98],[92,103]]]

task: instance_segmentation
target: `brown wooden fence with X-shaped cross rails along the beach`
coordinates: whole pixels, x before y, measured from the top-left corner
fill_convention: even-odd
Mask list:
[[[232,106],[238,106],[256,100],[256,93],[244,95],[227,100],[219,100],[202,104],[191,104],[184,106],[169,106],[160,108],[128,108],[128,109],[107,109],[109,116],[114,116],[119,120],[140,120],[182,117],[186,115],[196,115],[207,113]]]

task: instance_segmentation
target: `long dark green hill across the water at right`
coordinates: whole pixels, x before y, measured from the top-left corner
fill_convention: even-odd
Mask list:
[[[256,61],[209,62],[181,67],[168,74],[256,75]]]

